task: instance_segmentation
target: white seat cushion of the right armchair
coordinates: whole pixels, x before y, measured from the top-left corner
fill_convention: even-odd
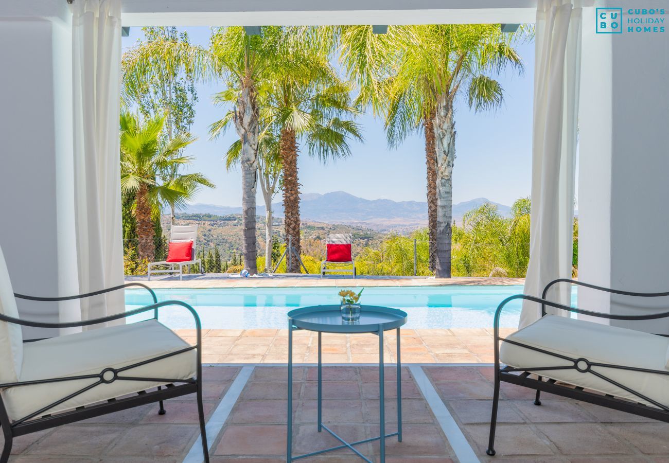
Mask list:
[[[599,363],[660,371],[666,371],[669,347],[666,337],[554,315],[543,316],[506,339],[573,359],[583,357]],[[533,368],[573,365],[573,362],[549,354],[502,342],[500,361],[544,377],[652,405],[591,373],[580,373],[575,369],[541,371]],[[669,375],[605,367],[592,367],[592,370],[662,405],[669,405]]]

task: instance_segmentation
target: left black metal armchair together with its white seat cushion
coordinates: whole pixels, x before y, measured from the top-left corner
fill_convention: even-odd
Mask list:
[[[191,393],[197,397],[203,455],[205,462],[209,462],[202,402],[201,325],[193,307],[179,300],[158,302],[155,292],[140,283],[59,298],[13,296],[37,301],[74,300],[128,286],[146,288],[153,304],[80,322],[21,320],[12,316],[17,312],[7,294],[0,294],[0,349],[5,354],[9,352],[14,360],[22,357],[19,365],[13,365],[18,371],[11,371],[12,365],[3,367],[5,371],[0,369],[0,427],[5,438],[0,463],[9,460],[16,436],[153,402],[159,402],[162,415],[165,399]],[[7,286],[0,285],[0,290],[3,288]],[[158,321],[159,310],[165,306],[182,306],[191,312],[197,331],[196,345],[185,343]],[[16,343],[20,328],[18,331],[9,328],[88,327],[151,311],[153,318],[149,320],[56,338],[21,340],[21,345]],[[14,373],[17,373],[15,378]]]

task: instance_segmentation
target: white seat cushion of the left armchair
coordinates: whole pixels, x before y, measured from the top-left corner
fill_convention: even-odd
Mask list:
[[[98,374],[106,368],[118,369],[185,347],[188,344],[183,339],[157,320],[25,343],[19,381]],[[196,352],[191,350],[128,369],[119,376],[189,379],[195,377],[195,365]],[[9,418],[19,420],[96,381],[98,378],[9,387],[3,389],[2,395]],[[165,382],[116,379],[112,383],[96,385],[40,415],[90,405],[162,384]]]

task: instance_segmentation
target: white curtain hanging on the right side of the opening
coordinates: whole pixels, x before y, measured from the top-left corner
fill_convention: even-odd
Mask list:
[[[539,0],[537,8],[530,262],[524,287],[531,296],[541,296],[555,278],[571,278],[581,13],[570,0]],[[549,298],[569,304],[569,284],[557,286]],[[524,301],[520,328],[539,316],[541,306]]]

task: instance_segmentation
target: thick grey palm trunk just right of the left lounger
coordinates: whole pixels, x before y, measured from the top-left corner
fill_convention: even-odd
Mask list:
[[[258,102],[254,82],[242,80],[242,92],[234,116],[237,134],[242,138],[242,253],[244,267],[250,274],[256,267],[256,190],[258,188]]]

